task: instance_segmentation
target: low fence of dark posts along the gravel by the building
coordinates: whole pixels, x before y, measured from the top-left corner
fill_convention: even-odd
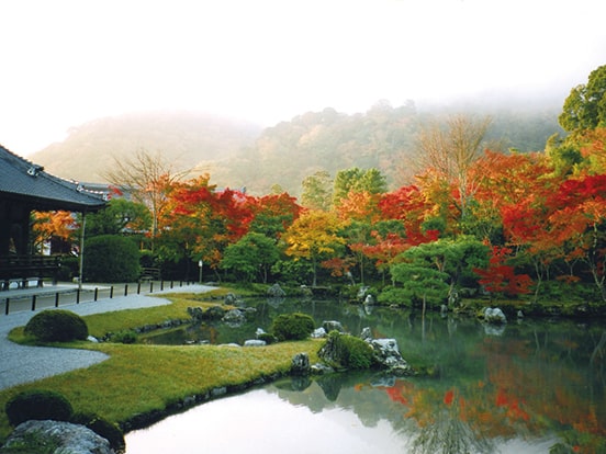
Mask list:
[[[87,302],[97,302],[99,299],[114,298],[117,296],[150,294],[162,292],[165,290],[180,288],[189,286],[193,282],[184,281],[148,281],[130,284],[116,284],[102,287],[66,288],[57,292],[45,292],[38,290],[32,294],[22,294],[15,296],[2,296],[0,293],[0,307],[4,306],[4,315],[11,311],[36,310],[49,307],[59,307],[59,305],[71,305]]]

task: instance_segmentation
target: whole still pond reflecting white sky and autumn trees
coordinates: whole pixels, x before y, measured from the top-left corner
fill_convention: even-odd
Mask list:
[[[339,320],[354,334],[370,327],[375,338],[395,338],[403,356],[431,375],[282,379],[131,432],[127,454],[606,450],[604,320],[509,320],[496,330],[473,319],[422,320],[335,302],[249,305],[257,311],[240,327],[182,330],[177,342],[243,343],[258,327],[269,330],[278,314],[303,311],[316,325]]]

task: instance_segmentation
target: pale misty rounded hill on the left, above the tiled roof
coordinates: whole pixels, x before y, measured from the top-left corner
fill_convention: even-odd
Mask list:
[[[172,170],[192,169],[203,160],[234,156],[250,146],[261,127],[195,112],[145,112],[98,118],[72,127],[64,141],[29,159],[45,170],[77,181],[105,182],[115,159],[137,151],[160,152]]]

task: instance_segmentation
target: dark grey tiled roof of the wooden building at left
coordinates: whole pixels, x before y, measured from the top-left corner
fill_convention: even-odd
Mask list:
[[[26,201],[35,209],[90,212],[105,205],[103,194],[54,177],[0,146],[0,198]]]

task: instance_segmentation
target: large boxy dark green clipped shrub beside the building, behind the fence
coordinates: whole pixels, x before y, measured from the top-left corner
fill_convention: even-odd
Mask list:
[[[141,274],[137,245],[116,235],[92,237],[85,246],[83,274],[89,282],[136,281]]]

